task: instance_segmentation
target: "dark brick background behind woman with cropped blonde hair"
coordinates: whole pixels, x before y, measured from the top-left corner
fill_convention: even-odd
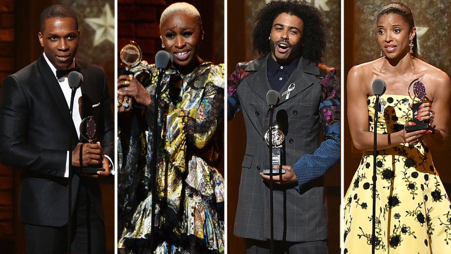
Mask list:
[[[134,40],[142,51],[142,60],[155,63],[161,48],[159,21],[167,6],[182,0],[118,0],[118,68],[122,47]],[[224,0],[184,0],[192,4],[202,17],[204,40],[200,57],[214,64],[224,63]],[[223,123],[221,123],[223,124]],[[224,175],[224,155],[218,170]],[[118,223],[118,228],[120,228]],[[118,231],[118,237],[121,232]],[[232,252],[233,253],[233,252]]]

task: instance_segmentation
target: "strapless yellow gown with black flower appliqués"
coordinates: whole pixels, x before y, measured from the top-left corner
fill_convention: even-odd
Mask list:
[[[375,98],[368,98],[371,132]],[[411,120],[409,103],[409,96],[382,95],[377,132],[402,130]],[[367,151],[343,201],[345,254],[371,253],[372,175],[373,152]],[[451,253],[450,201],[422,142],[380,150],[376,181],[376,253]]]

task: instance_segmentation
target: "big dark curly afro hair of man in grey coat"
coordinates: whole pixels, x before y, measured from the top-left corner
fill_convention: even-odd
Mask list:
[[[274,19],[282,13],[302,19],[304,22],[302,56],[312,62],[321,62],[321,56],[326,48],[323,19],[319,10],[306,1],[272,1],[266,4],[255,20],[257,25],[253,34],[254,51],[258,51],[261,56],[271,52],[268,37]]]

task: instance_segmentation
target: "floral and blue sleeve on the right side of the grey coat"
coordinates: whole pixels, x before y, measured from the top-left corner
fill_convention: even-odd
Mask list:
[[[340,85],[336,69],[326,70],[327,75],[318,79],[323,99],[319,106],[320,121],[325,140],[313,154],[304,155],[293,165],[297,191],[306,183],[323,176],[340,159]]]

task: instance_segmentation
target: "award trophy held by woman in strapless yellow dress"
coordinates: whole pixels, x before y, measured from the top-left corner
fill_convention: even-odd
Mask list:
[[[413,87],[414,97],[412,97],[410,93],[410,89]],[[427,102],[426,98],[426,88],[424,87],[423,83],[421,83],[421,78],[415,79],[412,81],[409,85],[408,91],[409,97],[414,101],[412,103],[412,120],[415,123],[415,125],[409,125],[405,127],[406,132],[415,132],[419,130],[430,130],[433,133],[435,132],[434,128],[432,128],[431,125],[429,125],[427,122],[416,119],[417,112],[420,109],[420,106],[422,103]]]

